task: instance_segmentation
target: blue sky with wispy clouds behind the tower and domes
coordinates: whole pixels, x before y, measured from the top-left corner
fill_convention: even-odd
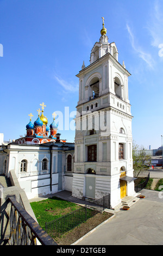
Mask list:
[[[129,77],[133,139],[152,149],[161,146],[163,3],[160,0],[0,0],[1,121],[4,140],[17,139],[37,119],[40,103],[48,125],[52,113],[76,111],[83,60],[101,36],[102,19],[109,42],[118,48]],[[1,55],[1,53],[0,53]],[[72,118],[70,118],[70,121]],[[74,131],[60,130],[74,141]]]

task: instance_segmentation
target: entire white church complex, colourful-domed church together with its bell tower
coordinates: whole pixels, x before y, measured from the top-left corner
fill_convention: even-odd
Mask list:
[[[52,124],[44,116],[26,126],[27,135],[0,146],[0,174],[14,171],[28,198],[72,192],[80,199],[110,194],[111,208],[125,196],[135,196],[131,105],[126,66],[118,62],[115,42],[106,28],[95,42],[90,65],[79,71],[75,143],[60,139],[55,114]],[[40,112],[42,112],[40,116]]]

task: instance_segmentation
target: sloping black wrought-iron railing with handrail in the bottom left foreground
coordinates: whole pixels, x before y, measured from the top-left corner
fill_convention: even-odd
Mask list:
[[[36,239],[41,245],[57,245],[15,198],[8,199],[11,203],[10,245],[36,245]]]

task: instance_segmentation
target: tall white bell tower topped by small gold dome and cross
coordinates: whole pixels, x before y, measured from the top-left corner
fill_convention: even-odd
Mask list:
[[[79,101],[72,196],[98,199],[107,194],[111,206],[122,194],[135,194],[132,160],[131,112],[128,99],[130,73],[118,62],[115,42],[106,28],[90,54],[90,65],[79,71]],[[121,182],[123,172],[126,177]],[[128,182],[128,180],[130,182]],[[125,191],[122,193],[122,183]]]

